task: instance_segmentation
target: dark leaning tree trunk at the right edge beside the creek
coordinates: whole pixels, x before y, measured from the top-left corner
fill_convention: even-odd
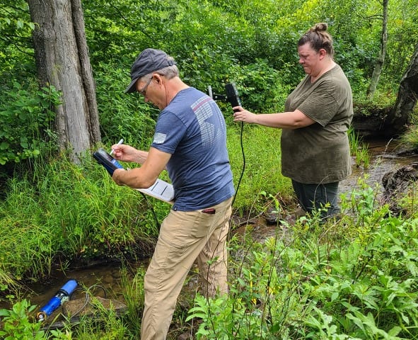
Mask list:
[[[410,123],[411,114],[418,100],[418,43],[410,64],[400,80],[399,91],[393,110],[385,120],[386,135],[400,135]]]

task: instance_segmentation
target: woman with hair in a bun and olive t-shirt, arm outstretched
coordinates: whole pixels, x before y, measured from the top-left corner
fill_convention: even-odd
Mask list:
[[[255,114],[237,106],[234,121],[281,128],[281,172],[291,178],[304,212],[339,212],[338,184],[351,174],[347,130],[352,122],[352,90],[333,59],[326,23],[298,40],[306,77],[286,99],[284,113]]]

